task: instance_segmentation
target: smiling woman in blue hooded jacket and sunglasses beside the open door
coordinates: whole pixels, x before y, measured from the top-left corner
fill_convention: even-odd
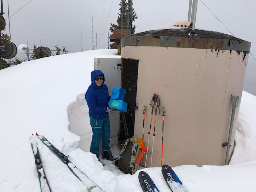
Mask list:
[[[102,159],[114,160],[109,148],[110,123],[108,108],[110,99],[108,87],[104,84],[104,74],[100,70],[91,72],[91,85],[88,87],[85,99],[89,107],[90,125],[93,129],[90,152],[99,159],[99,143],[102,141]],[[100,160],[99,160],[100,161]]]

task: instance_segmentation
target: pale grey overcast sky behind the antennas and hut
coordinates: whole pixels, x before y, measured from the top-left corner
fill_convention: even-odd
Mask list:
[[[10,15],[29,1],[9,0]],[[256,1],[202,1],[235,37],[252,43],[251,54],[256,57]],[[108,48],[109,27],[110,23],[116,23],[119,3],[120,0],[32,0],[10,18],[12,42],[17,47],[28,42],[29,48],[32,48],[34,44],[40,46],[41,39],[41,46],[53,50],[59,43],[60,47],[66,46],[68,53],[74,53],[81,51],[82,33],[83,50],[91,50],[93,16],[94,48],[96,33],[97,49]],[[188,4],[189,0],[133,0],[133,8],[138,16],[133,23],[137,26],[136,33],[168,27],[179,20],[187,20]],[[3,0],[3,5],[3,16],[7,19],[7,0]],[[5,33],[9,34],[8,20],[6,22]],[[196,27],[230,34],[201,0],[198,0]],[[17,57],[25,59],[26,55],[18,52]],[[256,60],[251,55],[244,90],[256,95]]]

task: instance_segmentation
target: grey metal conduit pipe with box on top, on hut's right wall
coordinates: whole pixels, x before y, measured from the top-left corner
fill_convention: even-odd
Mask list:
[[[236,107],[238,105],[238,101],[239,101],[239,97],[237,95],[232,95],[231,96],[232,114],[231,114],[230,127],[229,127],[229,139],[227,140],[227,152],[226,152],[225,165],[228,164],[231,135],[232,135],[233,123],[234,123],[234,116],[235,116]]]

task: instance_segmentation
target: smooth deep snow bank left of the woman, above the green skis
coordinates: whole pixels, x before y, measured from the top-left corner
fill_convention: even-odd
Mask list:
[[[23,62],[0,70],[0,191],[39,191],[31,133],[63,152],[78,147],[68,131],[67,106],[90,84],[94,58],[120,58],[100,49]],[[89,78],[89,80],[88,80]]]

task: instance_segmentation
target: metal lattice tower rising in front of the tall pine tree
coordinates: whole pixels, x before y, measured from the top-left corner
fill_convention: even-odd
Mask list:
[[[122,0],[121,11],[121,38],[123,38],[123,30],[127,30],[127,35],[132,34],[132,0],[128,0],[128,4],[124,5],[126,0]],[[124,25],[126,22],[127,25]]]

